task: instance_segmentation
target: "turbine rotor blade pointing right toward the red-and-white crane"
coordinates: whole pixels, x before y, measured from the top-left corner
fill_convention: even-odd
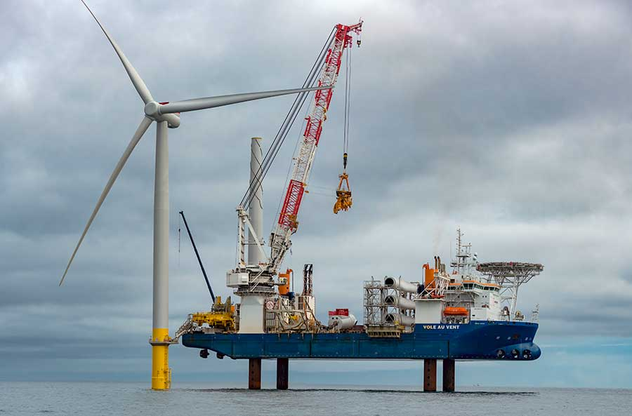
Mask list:
[[[279,95],[305,93],[315,90],[327,90],[333,86],[320,86],[312,88],[296,88],[293,90],[263,91],[263,93],[245,93],[232,95],[218,95],[217,97],[194,98],[192,100],[174,101],[161,105],[160,114],[193,112],[199,109],[221,107],[223,105],[237,104],[237,102],[261,100],[262,98],[277,97]]]

